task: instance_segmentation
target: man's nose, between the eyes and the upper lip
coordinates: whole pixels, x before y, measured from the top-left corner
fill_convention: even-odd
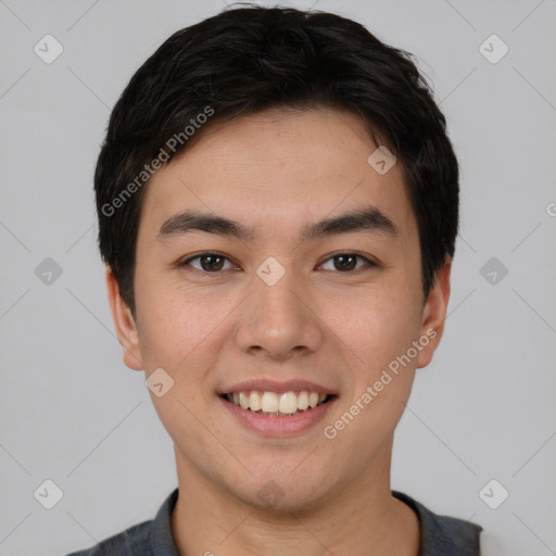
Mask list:
[[[308,283],[286,265],[283,276],[266,280],[253,276],[253,288],[241,308],[237,346],[245,353],[275,361],[315,353],[324,340],[325,325]]]

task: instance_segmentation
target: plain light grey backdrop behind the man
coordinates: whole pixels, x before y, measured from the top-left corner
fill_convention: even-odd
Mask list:
[[[223,7],[0,0],[0,555],[84,548],[152,518],[177,484],[115,339],[92,170],[132,73]],[[463,170],[450,316],[396,433],[393,488],[482,525],[485,554],[556,554],[556,2],[315,7],[418,56]],[[51,64],[34,52],[47,34],[64,49]],[[480,50],[492,34],[509,47],[497,63]],[[36,273],[47,257],[62,269],[50,283],[49,263]],[[64,493],[50,510],[34,497],[46,479]],[[497,509],[479,495],[491,479],[509,492]],[[492,504],[502,491],[486,492]]]

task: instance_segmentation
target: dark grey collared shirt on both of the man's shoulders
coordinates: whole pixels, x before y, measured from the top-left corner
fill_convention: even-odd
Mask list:
[[[419,518],[419,556],[480,556],[482,527],[454,517],[438,516],[401,492],[392,491],[392,495],[407,504]],[[178,489],[166,497],[154,519],[132,526],[92,548],[67,556],[179,556],[170,527],[177,498]]]

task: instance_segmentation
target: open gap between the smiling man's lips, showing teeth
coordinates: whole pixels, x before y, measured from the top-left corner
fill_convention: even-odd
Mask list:
[[[338,396],[308,390],[290,390],[287,392],[243,390],[241,392],[227,392],[220,394],[219,397],[253,414],[291,417],[328,404]]]

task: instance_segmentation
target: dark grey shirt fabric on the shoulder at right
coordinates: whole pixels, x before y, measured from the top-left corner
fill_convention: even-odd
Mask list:
[[[419,556],[450,554],[451,556],[479,556],[482,527],[456,517],[439,516],[407,494],[392,492],[407,504],[419,518],[421,542]]]

